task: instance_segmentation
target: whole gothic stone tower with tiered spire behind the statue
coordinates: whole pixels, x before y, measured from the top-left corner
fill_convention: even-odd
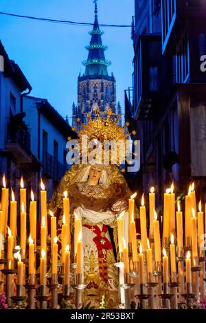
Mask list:
[[[73,107],[73,126],[78,130],[80,122],[87,123],[88,113],[93,115],[96,109],[102,114],[111,108],[116,113],[116,84],[113,74],[108,75],[107,67],[111,62],[105,59],[104,51],[108,48],[102,45],[102,32],[98,23],[98,5],[95,3],[95,21],[90,44],[85,48],[89,54],[82,64],[84,74],[78,76],[78,107]],[[80,122],[78,122],[78,121]]]

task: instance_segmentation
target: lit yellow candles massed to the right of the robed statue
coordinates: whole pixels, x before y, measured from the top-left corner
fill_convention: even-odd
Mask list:
[[[146,254],[147,270],[148,275],[152,274],[152,249],[150,248],[149,239],[147,236],[147,225],[146,225],[146,207],[144,205],[144,194],[141,199],[140,212],[140,229],[141,229],[141,247],[139,248],[139,254],[137,252],[137,233],[134,221],[135,214],[135,198],[136,194],[129,199],[129,243],[131,243],[133,263],[139,262],[139,275],[140,279],[143,279],[143,258],[144,253]],[[159,230],[159,221],[157,220],[157,213],[155,212],[155,192],[154,188],[151,189],[149,194],[150,201],[150,239],[154,240],[155,249],[155,263],[162,263],[163,268],[163,281],[168,282],[169,267],[168,267],[168,256],[165,248],[163,247],[163,258],[161,258],[161,236]],[[183,212],[180,210],[180,203],[177,202],[178,211],[176,211],[176,219],[171,214],[175,214],[175,195],[173,193],[173,185],[164,195],[164,210],[163,210],[163,246],[169,247],[170,249],[170,271],[172,279],[176,277],[176,246],[183,252]],[[193,208],[194,207],[194,208]],[[119,253],[124,255],[124,270],[126,273],[129,271],[128,266],[128,247],[123,245],[124,239],[122,239],[124,232],[124,221],[122,219],[124,212],[117,218],[117,230],[118,230],[118,241],[119,241]],[[172,216],[172,221],[171,221]],[[206,223],[206,219],[205,219]],[[152,227],[152,229],[151,229]],[[190,229],[190,230],[189,230]],[[166,232],[166,233],[165,233]],[[168,236],[170,232],[170,236]],[[173,233],[172,233],[173,232]],[[176,236],[176,245],[174,244],[174,234]],[[190,235],[189,235],[190,234]],[[190,240],[188,239],[190,237]],[[167,243],[165,243],[167,238]],[[169,239],[168,239],[169,238]],[[185,198],[185,246],[188,245],[188,241],[192,247],[192,260],[196,264],[198,256],[203,256],[203,239],[204,239],[204,214],[201,211],[201,201],[199,203],[199,212],[196,216],[196,195],[194,191],[194,183],[190,186],[189,193]],[[170,245],[169,245],[170,240]],[[190,252],[187,253],[186,263],[186,279],[187,282],[191,282],[191,259]]]

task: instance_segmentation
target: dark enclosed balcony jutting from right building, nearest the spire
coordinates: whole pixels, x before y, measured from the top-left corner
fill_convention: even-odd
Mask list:
[[[161,60],[161,36],[139,36],[135,53],[135,119],[149,118],[159,93]]]

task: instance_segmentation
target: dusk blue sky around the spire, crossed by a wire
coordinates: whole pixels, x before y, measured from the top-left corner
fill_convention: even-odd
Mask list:
[[[27,16],[93,23],[92,0],[1,0],[0,11]],[[99,23],[130,25],[134,0],[98,0]],[[77,78],[84,73],[85,45],[92,27],[32,21],[0,14],[0,39],[32,85],[32,96],[46,98],[58,112],[69,116],[77,103]],[[133,42],[131,28],[101,27],[108,45],[108,73],[117,82],[117,101],[124,112],[124,89],[132,83]]]

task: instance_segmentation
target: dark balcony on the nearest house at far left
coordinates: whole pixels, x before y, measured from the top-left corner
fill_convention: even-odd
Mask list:
[[[30,131],[23,122],[21,127],[14,126],[10,122],[8,126],[8,140],[5,148],[12,153],[16,161],[20,164],[32,163],[32,153],[30,149]]]

